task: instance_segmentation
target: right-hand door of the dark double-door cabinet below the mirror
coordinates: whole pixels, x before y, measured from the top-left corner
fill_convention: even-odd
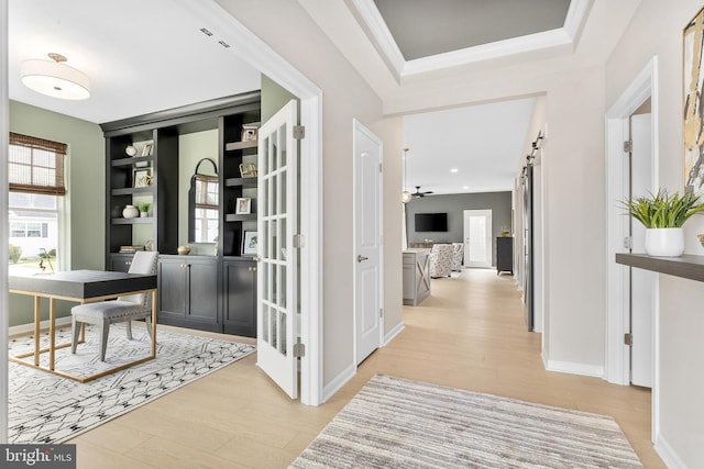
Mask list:
[[[218,322],[218,266],[211,260],[188,260],[187,320]]]

